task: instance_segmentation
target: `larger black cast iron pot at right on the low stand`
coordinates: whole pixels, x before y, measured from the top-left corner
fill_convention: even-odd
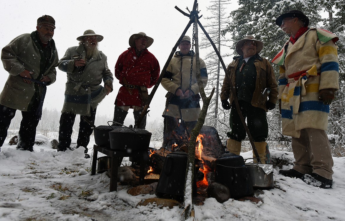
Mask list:
[[[109,132],[110,148],[117,151],[144,151],[150,145],[151,133],[145,129],[117,127]]]

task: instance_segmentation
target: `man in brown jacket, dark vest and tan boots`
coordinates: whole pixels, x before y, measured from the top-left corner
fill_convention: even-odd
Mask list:
[[[252,35],[247,35],[237,42],[236,52],[240,56],[234,57],[234,61],[227,68],[228,73],[221,87],[220,99],[224,109],[228,110],[231,107],[231,131],[227,133],[228,150],[239,155],[241,142],[246,137],[245,128],[234,102],[236,96],[241,113],[244,118],[247,118],[248,129],[253,137],[260,162],[265,164],[270,160],[265,142],[268,136],[266,112],[275,108],[278,90],[271,64],[259,55],[263,47],[264,43],[256,40]],[[231,93],[230,81],[236,89],[236,94]],[[253,152],[253,158],[255,157]],[[254,162],[258,160],[255,159]]]

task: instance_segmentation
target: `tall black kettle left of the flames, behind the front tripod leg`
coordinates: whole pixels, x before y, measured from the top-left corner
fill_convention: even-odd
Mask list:
[[[187,156],[185,152],[173,152],[165,157],[164,165],[159,176],[156,195],[163,198],[176,199],[184,198]],[[193,182],[194,193],[196,193],[196,176]]]

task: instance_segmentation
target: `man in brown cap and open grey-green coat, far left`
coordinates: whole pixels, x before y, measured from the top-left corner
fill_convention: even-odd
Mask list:
[[[47,85],[56,80],[58,52],[52,39],[55,20],[37,19],[36,31],[14,38],[1,51],[9,77],[0,95],[0,147],[16,110],[22,113],[17,149],[33,151]]]

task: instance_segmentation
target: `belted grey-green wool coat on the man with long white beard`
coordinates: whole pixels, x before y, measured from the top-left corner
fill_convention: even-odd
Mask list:
[[[75,55],[86,56],[82,45],[68,48],[59,61],[59,69],[67,73],[65,102],[61,112],[89,116],[90,108],[96,108],[107,95],[108,90],[100,85],[102,80],[112,90],[114,78],[108,68],[107,56],[101,51],[86,61],[80,73],[80,67],[74,67],[72,56]]]

